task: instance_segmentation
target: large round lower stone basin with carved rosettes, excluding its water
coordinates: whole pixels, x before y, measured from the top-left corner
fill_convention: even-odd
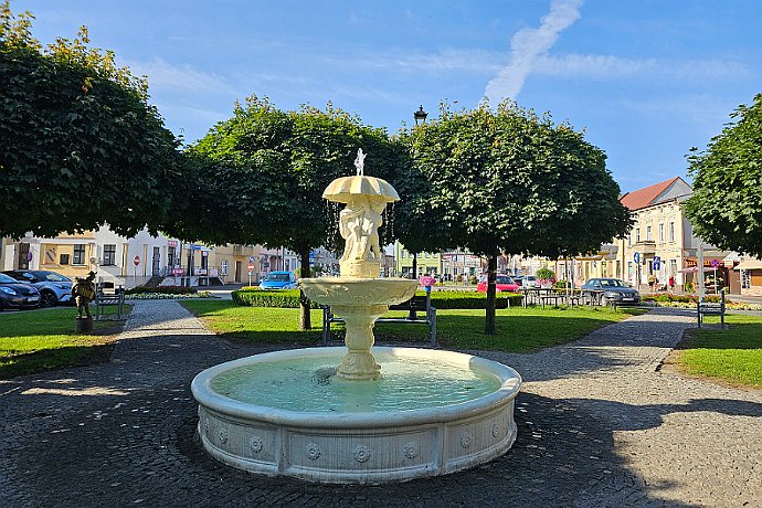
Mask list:
[[[453,369],[487,371],[491,393],[457,404],[406,411],[332,413],[248,404],[215,392],[212,380],[231,369],[273,361],[341,356],[343,348],[276,351],[222,363],[191,384],[199,402],[199,435],[218,461],[252,473],[320,483],[374,484],[438,476],[505,454],[516,440],[514,369],[452,351],[374,348],[405,359],[436,358]],[[362,381],[364,382],[364,381]]]

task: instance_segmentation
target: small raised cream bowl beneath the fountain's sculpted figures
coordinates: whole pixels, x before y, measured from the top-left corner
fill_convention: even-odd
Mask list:
[[[409,278],[318,277],[301,278],[299,287],[322,305],[395,305],[415,295],[417,281]]]

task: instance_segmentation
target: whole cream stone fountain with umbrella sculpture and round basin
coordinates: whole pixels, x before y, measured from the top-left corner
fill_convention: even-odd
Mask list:
[[[257,354],[193,379],[201,443],[225,464],[324,483],[399,481],[483,464],[516,440],[514,369],[452,351],[373,348],[375,320],[410,299],[417,281],[379,276],[378,229],[400,198],[364,176],[364,157],[358,150],[357,174],[322,194],[346,203],[341,276],[300,281],[345,320],[346,349]]]

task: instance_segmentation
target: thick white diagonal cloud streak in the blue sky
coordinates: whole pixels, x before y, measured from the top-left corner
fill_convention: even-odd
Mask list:
[[[561,32],[580,19],[582,0],[552,0],[550,12],[537,29],[521,29],[510,40],[510,62],[488,84],[485,95],[493,104],[516,97],[533,71],[538,57],[547,53]]]

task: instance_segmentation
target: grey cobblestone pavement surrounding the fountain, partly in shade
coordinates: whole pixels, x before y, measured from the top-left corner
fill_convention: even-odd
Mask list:
[[[533,354],[502,457],[384,486],[267,478],[209,458],[190,381],[265,351],[174,301],[136,301],[110,362],[0,381],[0,506],[762,506],[762,392],[657,371],[689,315],[658,309]]]

